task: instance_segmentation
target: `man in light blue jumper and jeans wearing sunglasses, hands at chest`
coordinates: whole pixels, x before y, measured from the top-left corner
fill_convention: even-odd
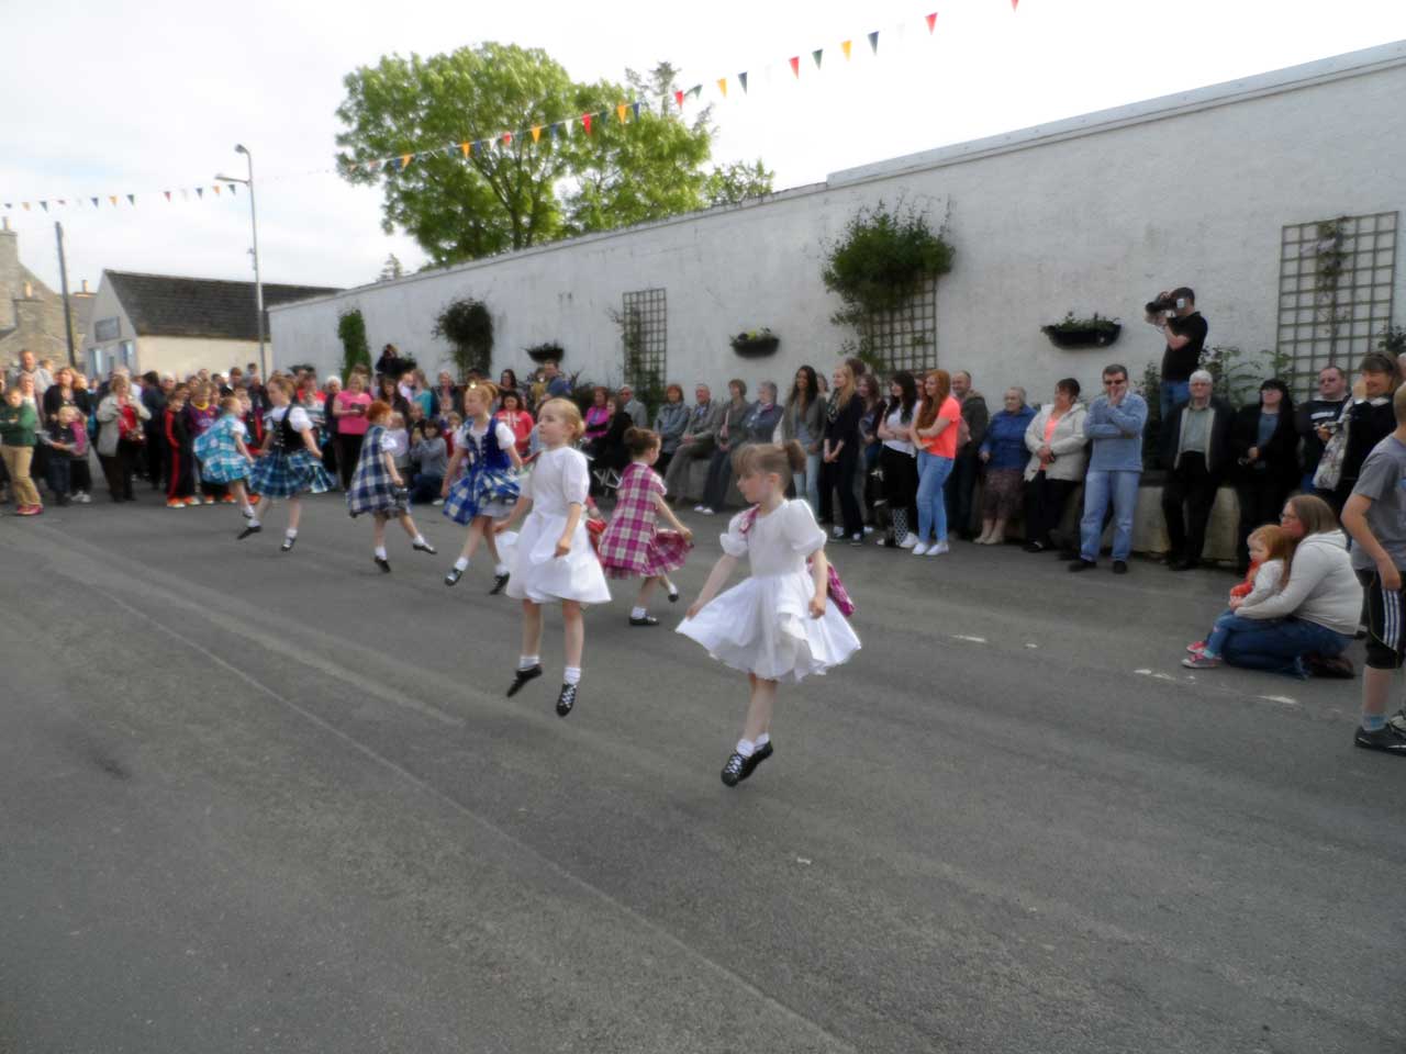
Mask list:
[[[1088,475],[1084,476],[1084,519],[1080,521],[1078,559],[1070,571],[1097,566],[1104,537],[1104,513],[1114,503],[1114,573],[1128,573],[1133,548],[1133,512],[1142,479],[1142,431],[1147,403],[1128,389],[1128,367],[1104,367],[1104,393],[1094,399],[1084,419],[1091,441]]]

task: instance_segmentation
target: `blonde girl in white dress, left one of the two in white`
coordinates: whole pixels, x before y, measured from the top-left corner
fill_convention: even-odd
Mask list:
[[[506,531],[527,507],[517,540],[508,545],[508,596],[523,601],[523,651],[508,694],[515,696],[533,677],[541,676],[541,606],[561,603],[565,627],[567,668],[557,696],[557,715],[576,705],[581,684],[581,653],[586,645],[582,604],[610,601],[600,561],[591,548],[582,512],[591,490],[586,455],[572,448],[585,431],[581,410],[569,399],[548,399],[537,417],[543,451],[522,496],[498,533]]]

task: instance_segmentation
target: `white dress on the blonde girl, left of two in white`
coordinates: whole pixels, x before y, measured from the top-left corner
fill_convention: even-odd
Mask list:
[[[544,450],[523,485],[523,497],[531,499],[531,512],[522,531],[508,544],[503,562],[512,578],[508,596],[538,604],[578,600],[582,604],[610,603],[610,587],[600,569],[586,531],[585,503],[591,490],[586,455],[571,447]],[[571,552],[557,555],[557,540],[567,528],[567,507],[582,506]],[[508,535],[502,535],[508,538]],[[503,541],[499,541],[499,551]]]

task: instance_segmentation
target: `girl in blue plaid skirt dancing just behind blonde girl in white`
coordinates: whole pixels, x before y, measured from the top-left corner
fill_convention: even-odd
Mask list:
[[[444,514],[454,523],[468,526],[464,548],[444,576],[444,585],[453,586],[468,569],[478,544],[486,542],[494,558],[494,587],[489,594],[501,593],[508,585],[508,565],[498,555],[494,540],[494,520],[512,512],[517,500],[517,472],[523,467],[517,455],[517,440],[513,430],[492,416],[498,388],[488,381],[474,381],[464,389],[464,424],[454,433],[454,454],[444,472],[440,496],[444,499]],[[460,465],[467,462],[463,475]]]

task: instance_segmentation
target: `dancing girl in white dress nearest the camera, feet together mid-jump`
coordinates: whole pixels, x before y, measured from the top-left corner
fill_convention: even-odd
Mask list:
[[[810,505],[786,500],[792,474],[804,465],[806,451],[794,440],[786,445],[755,444],[738,453],[737,486],[752,507],[728,523],[721,537],[723,555],[678,628],[714,659],[745,672],[752,686],[742,738],[723,766],[728,787],[775,753],[770,727],[776,683],[824,673],[859,649],[849,623],[827,603],[825,533],[815,524]],[[717,596],[744,555],[752,576]]]

